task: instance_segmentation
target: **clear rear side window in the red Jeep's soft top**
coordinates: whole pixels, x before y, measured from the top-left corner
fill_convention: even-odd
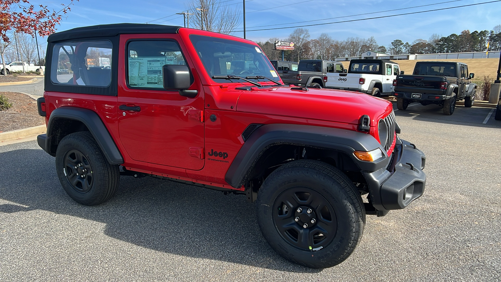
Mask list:
[[[67,42],[53,49],[51,80],[57,84],[109,86],[112,44],[110,41]]]

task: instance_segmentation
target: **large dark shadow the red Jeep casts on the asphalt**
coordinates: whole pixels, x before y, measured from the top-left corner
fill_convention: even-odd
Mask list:
[[[105,223],[106,235],[161,252],[290,272],[321,271],[278,255],[259,230],[255,204],[242,195],[126,176],[110,201],[88,207],[64,192],[54,158],[44,151],[9,151],[0,153],[0,160],[0,199],[15,203],[1,204],[0,213],[46,210]]]

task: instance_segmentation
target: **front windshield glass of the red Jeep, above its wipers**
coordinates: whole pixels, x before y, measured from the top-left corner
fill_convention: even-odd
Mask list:
[[[280,80],[268,58],[256,45],[194,34],[190,35],[190,40],[210,77],[264,76],[275,81]],[[212,80],[219,83],[228,82],[223,78]]]

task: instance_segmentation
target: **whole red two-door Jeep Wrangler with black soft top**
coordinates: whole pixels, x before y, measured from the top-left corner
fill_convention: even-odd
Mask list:
[[[120,175],[245,193],[278,253],[324,268],[353,252],[366,214],[423,194],[425,156],[396,135],[390,102],[284,86],[252,41],[114,24],[47,48],[38,144],[83,205],[110,199]]]

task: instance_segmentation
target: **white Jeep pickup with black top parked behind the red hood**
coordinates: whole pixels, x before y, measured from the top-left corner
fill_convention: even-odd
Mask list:
[[[391,94],[393,80],[400,74],[397,63],[388,60],[351,60],[348,73],[327,73],[325,88],[343,89],[381,96]]]

